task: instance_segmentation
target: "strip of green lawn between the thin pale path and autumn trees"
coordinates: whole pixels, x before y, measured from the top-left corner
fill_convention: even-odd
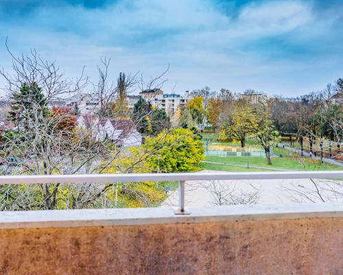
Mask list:
[[[228,162],[230,164],[247,164],[247,157],[218,157],[214,155],[207,155],[206,160],[210,162]],[[249,157],[249,165],[267,168],[285,168],[289,170],[343,170],[342,167],[333,164],[320,164],[320,161],[317,159],[309,159],[308,157],[304,157],[303,160],[305,163],[305,168],[302,164],[300,164],[300,162],[297,162],[296,159],[292,157],[273,157],[272,166],[266,164],[265,157]]]

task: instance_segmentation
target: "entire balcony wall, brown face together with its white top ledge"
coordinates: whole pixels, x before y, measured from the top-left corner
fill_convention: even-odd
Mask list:
[[[0,274],[343,274],[342,204],[2,212]]]

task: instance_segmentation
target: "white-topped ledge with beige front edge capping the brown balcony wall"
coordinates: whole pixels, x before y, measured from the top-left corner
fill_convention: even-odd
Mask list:
[[[342,218],[343,203],[211,206],[191,208],[190,212],[176,215],[171,208],[5,211],[0,215],[0,229]]]

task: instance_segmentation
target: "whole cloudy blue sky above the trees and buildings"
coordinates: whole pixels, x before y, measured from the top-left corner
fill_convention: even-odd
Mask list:
[[[299,96],[343,77],[342,0],[0,0],[0,65],[34,49],[69,77],[169,70],[163,91],[205,86]],[[0,85],[1,85],[0,80]]]

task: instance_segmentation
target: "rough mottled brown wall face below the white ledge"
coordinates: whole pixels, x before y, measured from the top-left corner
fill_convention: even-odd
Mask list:
[[[343,219],[0,230],[0,274],[343,274]]]

